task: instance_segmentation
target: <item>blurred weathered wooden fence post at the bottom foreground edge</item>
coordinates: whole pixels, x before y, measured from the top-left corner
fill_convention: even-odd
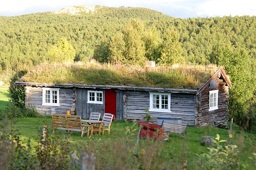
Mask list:
[[[81,152],[80,170],[95,170],[96,157],[94,153]]]

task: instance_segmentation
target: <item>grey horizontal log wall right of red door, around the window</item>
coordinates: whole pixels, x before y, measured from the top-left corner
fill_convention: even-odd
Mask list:
[[[195,125],[195,95],[171,94],[172,113],[147,112],[149,93],[146,91],[125,91],[123,93],[123,117],[128,120],[143,120],[149,113],[156,122],[159,116],[182,117],[182,122]]]

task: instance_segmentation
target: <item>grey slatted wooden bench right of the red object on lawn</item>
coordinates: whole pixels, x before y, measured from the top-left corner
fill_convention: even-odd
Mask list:
[[[183,137],[186,137],[187,135],[187,126],[188,124],[184,123],[169,122],[165,120],[162,122],[162,127],[164,127],[165,132],[181,133]]]

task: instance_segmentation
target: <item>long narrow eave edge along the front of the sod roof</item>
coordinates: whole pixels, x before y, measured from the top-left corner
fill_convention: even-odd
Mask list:
[[[23,86],[40,86],[40,87],[64,87],[64,88],[87,88],[87,89],[118,89],[118,90],[133,90],[133,91],[159,91],[159,92],[172,92],[172,93],[190,93],[196,94],[197,90],[188,89],[162,89],[162,88],[151,88],[151,87],[133,87],[133,86],[103,86],[103,85],[87,85],[87,84],[40,84],[31,82],[20,82],[16,81],[15,84],[20,84]]]

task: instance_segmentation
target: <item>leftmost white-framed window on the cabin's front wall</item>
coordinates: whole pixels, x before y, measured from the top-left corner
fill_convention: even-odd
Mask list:
[[[42,106],[59,106],[59,88],[42,87]]]

